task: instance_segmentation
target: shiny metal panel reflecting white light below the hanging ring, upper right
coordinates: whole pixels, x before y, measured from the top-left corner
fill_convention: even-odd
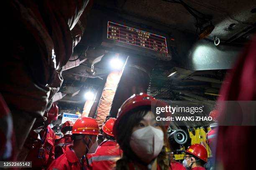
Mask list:
[[[224,45],[215,46],[213,42],[200,40],[193,44],[187,56],[183,58],[188,70],[231,69],[241,47]]]

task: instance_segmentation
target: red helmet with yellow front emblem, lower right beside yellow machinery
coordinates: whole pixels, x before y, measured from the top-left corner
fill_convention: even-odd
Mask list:
[[[194,155],[199,159],[207,162],[207,150],[203,145],[193,144],[185,151],[185,153]]]

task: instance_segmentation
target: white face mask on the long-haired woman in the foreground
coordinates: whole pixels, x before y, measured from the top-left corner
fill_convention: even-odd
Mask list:
[[[152,126],[143,127],[131,135],[130,146],[133,152],[146,163],[151,162],[161,152],[164,133]]]

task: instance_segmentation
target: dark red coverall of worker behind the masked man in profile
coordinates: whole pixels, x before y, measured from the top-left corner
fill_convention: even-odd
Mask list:
[[[55,142],[55,159],[57,159],[60,155],[64,154],[67,145],[73,145],[73,141],[71,140],[71,134],[66,134]]]

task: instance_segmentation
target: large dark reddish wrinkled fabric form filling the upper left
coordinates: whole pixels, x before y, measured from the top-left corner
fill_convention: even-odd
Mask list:
[[[93,0],[8,0],[1,4],[10,14],[3,21],[3,48],[10,53],[0,62],[1,72],[6,73],[1,76],[0,91],[13,124],[18,124],[13,126],[17,154],[35,119],[51,107],[63,82],[63,66],[86,30],[90,9],[86,7],[92,4]]]

